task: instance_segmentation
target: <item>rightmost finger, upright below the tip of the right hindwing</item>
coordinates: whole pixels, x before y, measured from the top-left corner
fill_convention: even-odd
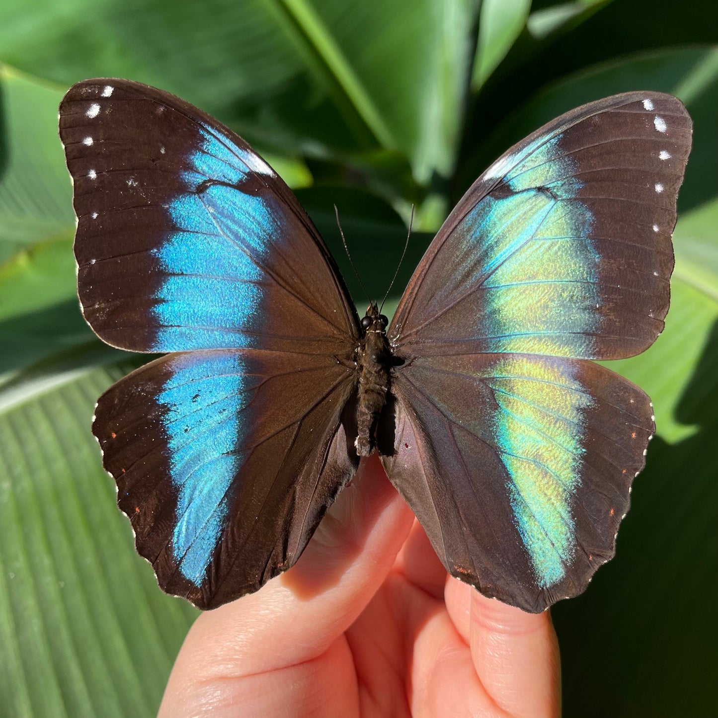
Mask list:
[[[517,718],[559,715],[559,645],[548,611],[526,613],[470,589],[468,635],[477,676],[498,707]]]

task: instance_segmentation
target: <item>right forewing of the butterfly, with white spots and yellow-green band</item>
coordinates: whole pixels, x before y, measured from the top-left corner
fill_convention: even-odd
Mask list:
[[[668,311],[691,118],[627,93],[539,129],[479,177],[432,242],[389,331],[404,353],[620,359]]]

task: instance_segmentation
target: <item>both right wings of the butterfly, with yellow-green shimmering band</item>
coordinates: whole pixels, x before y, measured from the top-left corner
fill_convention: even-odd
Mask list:
[[[386,469],[449,572],[487,595],[544,610],[613,554],[653,411],[586,360],[663,328],[690,146],[661,93],[557,118],[479,177],[399,303]]]

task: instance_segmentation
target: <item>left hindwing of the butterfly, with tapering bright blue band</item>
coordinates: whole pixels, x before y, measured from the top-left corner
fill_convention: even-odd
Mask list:
[[[101,396],[93,432],[162,589],[213,608],[292,567],[355,470],[353,386],[332,358],[214,350]]]

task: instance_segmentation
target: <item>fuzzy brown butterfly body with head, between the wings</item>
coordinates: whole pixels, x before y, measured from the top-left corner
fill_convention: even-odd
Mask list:
[[[372,302],[361,322],[364,334],[357,353],[359,393],[357,410],[357,453],[368,456],[373,452],[374,432],[379,414],[386,404],[391,368],[391,348],[386,338],[388,320]]]

